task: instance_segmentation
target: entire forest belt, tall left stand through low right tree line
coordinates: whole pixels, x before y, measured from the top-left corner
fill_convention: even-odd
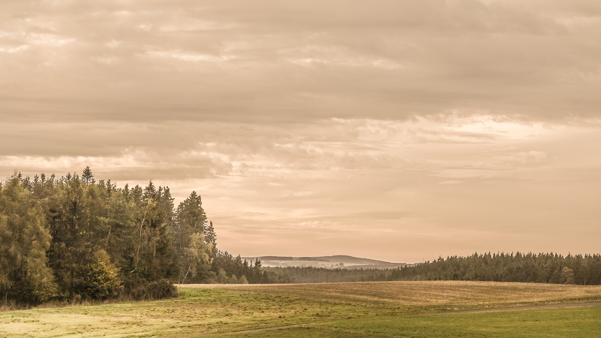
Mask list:
[[[481,280],[601,284],[601,256],[474,254],[398,269],[263,268],[217,248],[213,223],[192,192],[81,175],[0,183],[0,303],[157,299],[174,283],[323,283]],[[252,263],[252,264],[251,264]]]

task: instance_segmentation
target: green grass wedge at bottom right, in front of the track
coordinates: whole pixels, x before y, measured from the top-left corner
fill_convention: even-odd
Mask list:
[[[286,328],[215,337],[413,337],[413,338],[514,338],[599,337],[601,308],[566,308],[448,314],[434,316],[383,316],[332,321],[307,327]]]

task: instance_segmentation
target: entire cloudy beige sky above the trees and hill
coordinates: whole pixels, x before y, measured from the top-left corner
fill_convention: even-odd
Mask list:
[[[0,176],[192,191],[242,256],[600,253],[597,0],[2,0]]]

